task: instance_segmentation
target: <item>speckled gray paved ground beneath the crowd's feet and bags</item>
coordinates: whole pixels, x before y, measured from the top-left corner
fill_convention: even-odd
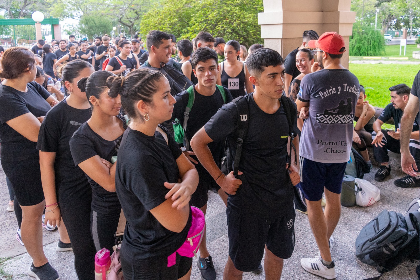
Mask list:
[[[379,214],[383,209],[405,213],[407,206],[412,198],[419,195],[419,189],[401,189],[394,186],[394,179],[402,177],[404,174],[392,171],[392,179],[385,182],[375,182],[373,176],[377,168],[370,174],[365,175],[365,179],[373,182],[381,189],[381,201],[373,206],[363,207],[342,207],[340,222],[333,234],[336,245],[333,249],[333,258],[336,262],[338,278],[340,280],[353,280],[374,277],[378,275],[375,269],[361,263],[354,254],[354,243],[362,227],[371,219]],[[12,213],[6,212],[5,208],[8,202],[7,187],[5,176],[0,171],[0,198],[2,198],[0,217],[0,257],[9,257],[8,260],[0,264],[0,278],[6,275],[13,277],[4,277],[1,279],[21,279],[33,280],[34,278],[26,275],[26,270],[31,264],[31,259],[26,253],[25,247],[21,246],[15,239],[16,218]],[[4,208],[4,209],[3,209]],[[207,246],[210,254],[213,256],[217,279],[221,280],[223,276],[223,267],[228,256],[228,237],[226,226],[226,209],[218,195],[210,193],[207,208]],[[317,254],[317,246],[310,230],[307,216],[297,212],[295,221],[296,247],[293,256],[285,260],[282,279],[285,280],[318,280],[321,279],[315,275],[305,272],[300,266],[300,258],[314,257]],[[87,234],[89,234],[87,232]],[[55,267],[61,280],[77,280],[74,271],[73,253],[55,251],[57,246],[58,232],[47,232],[44,230],[44,250],[53,267]],[[200,275],[196,266],[197,258],[193,260],[192,280],[199,280]],[[418,261],[417,261],[418,262]],[[404,261],[394,271],[388,272],[381,280],[409,280],[417,279],[415,267],[417,262],[411,263]],[[3,272],[4,271],[4,272]],[[3,273],[3,275],[2,275]],[[251,272],[244,273],[244,280],[262,280],[265,279],[264,273],[254,275]]]

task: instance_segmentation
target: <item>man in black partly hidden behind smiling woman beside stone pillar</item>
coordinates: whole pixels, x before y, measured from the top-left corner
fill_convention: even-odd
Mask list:
[[[303,32],[302,45],[300,45],[299,48],[292,50],[286,56],[286,58],[284,58],[284,68],[286,69],[286,74],[284,77],[285,78],[284,90],[286,92],[286,96],[289,95],[289,86],[290,86],[291,81],[293,81],[293,79],[296,78],[300,74],[299,69],[297,69],[296,67],[297,52],[299,50],[302,50],[303,48],[306,48],[309,40],[317,40],[317,39],[318,39],[318,33],[316,33],[313,30],[306,30],[305,32]]]

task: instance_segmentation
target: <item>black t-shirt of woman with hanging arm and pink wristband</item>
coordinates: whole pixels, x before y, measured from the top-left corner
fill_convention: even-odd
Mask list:
[[[37,149],[55,155],[55,190],[61,205],[71,205],[92,199],[92,190],[84,172],[74,166],[70,152],[70,137],[92,114],[89,109],[76,109],[66,99],[45,115],[38,135]]]

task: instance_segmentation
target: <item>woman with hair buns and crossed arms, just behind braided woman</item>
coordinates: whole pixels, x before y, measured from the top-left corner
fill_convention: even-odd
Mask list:
[[[92,116],[70,139],[74,164],[86,174],[92,187],[91,234],[96,250],[115,245],[115,231],[121,204],[115,193],[115,161],[126,120],[120,115],[120,95],[110,97],[106,81],[113,77],[109,71],[96,71],[79,80],[77,86],[92,107]]]

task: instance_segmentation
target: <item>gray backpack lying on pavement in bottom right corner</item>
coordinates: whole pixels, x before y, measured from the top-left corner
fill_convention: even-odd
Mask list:
[[[405,216],[394,211],[383,210],[367,223],[356,238],[356,256],[360,261],[383,272],[393,270],[413,251],[419,250],[420,212],[413,211]],[[420,279],[420,277],[419,277]]]

